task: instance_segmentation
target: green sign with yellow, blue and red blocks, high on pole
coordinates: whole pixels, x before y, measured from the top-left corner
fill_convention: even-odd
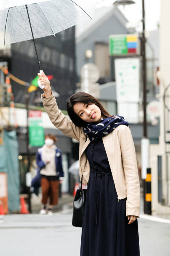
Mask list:
[[[138,35],[111,35],[109,36],[109,54],[133,55],[138,53]]]

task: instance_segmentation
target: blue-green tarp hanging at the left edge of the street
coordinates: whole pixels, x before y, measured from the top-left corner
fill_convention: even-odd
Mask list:
[[[4,131],[4,143],[0,145],[0,172],[7,173],[8,209],[10,212],[19,210],[18,140],[15,131]]]

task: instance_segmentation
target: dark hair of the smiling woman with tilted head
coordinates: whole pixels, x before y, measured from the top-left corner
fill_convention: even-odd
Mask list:
[[[104,117],[111,117],[109,113],[103,108],[101,103],[92,95],[85,92],[76,92],[67,99],[67,112],[72,122],[78,127],[86,127],[87,122],[82,120],[73,110],[75,103],[82,102],[85,104],[95,104],[101,110],[101,115]]]

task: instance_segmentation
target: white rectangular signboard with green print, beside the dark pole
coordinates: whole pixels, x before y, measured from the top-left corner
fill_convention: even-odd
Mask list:
[[[115,59],[117,102],[139,102],[140,59]]]

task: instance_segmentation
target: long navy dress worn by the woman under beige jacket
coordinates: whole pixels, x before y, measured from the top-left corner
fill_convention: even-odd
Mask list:
[[[80,256],[140,256],[138,221],[128,225],[126,198],[117,199],[102,138],[86,149],[90,163]]]

